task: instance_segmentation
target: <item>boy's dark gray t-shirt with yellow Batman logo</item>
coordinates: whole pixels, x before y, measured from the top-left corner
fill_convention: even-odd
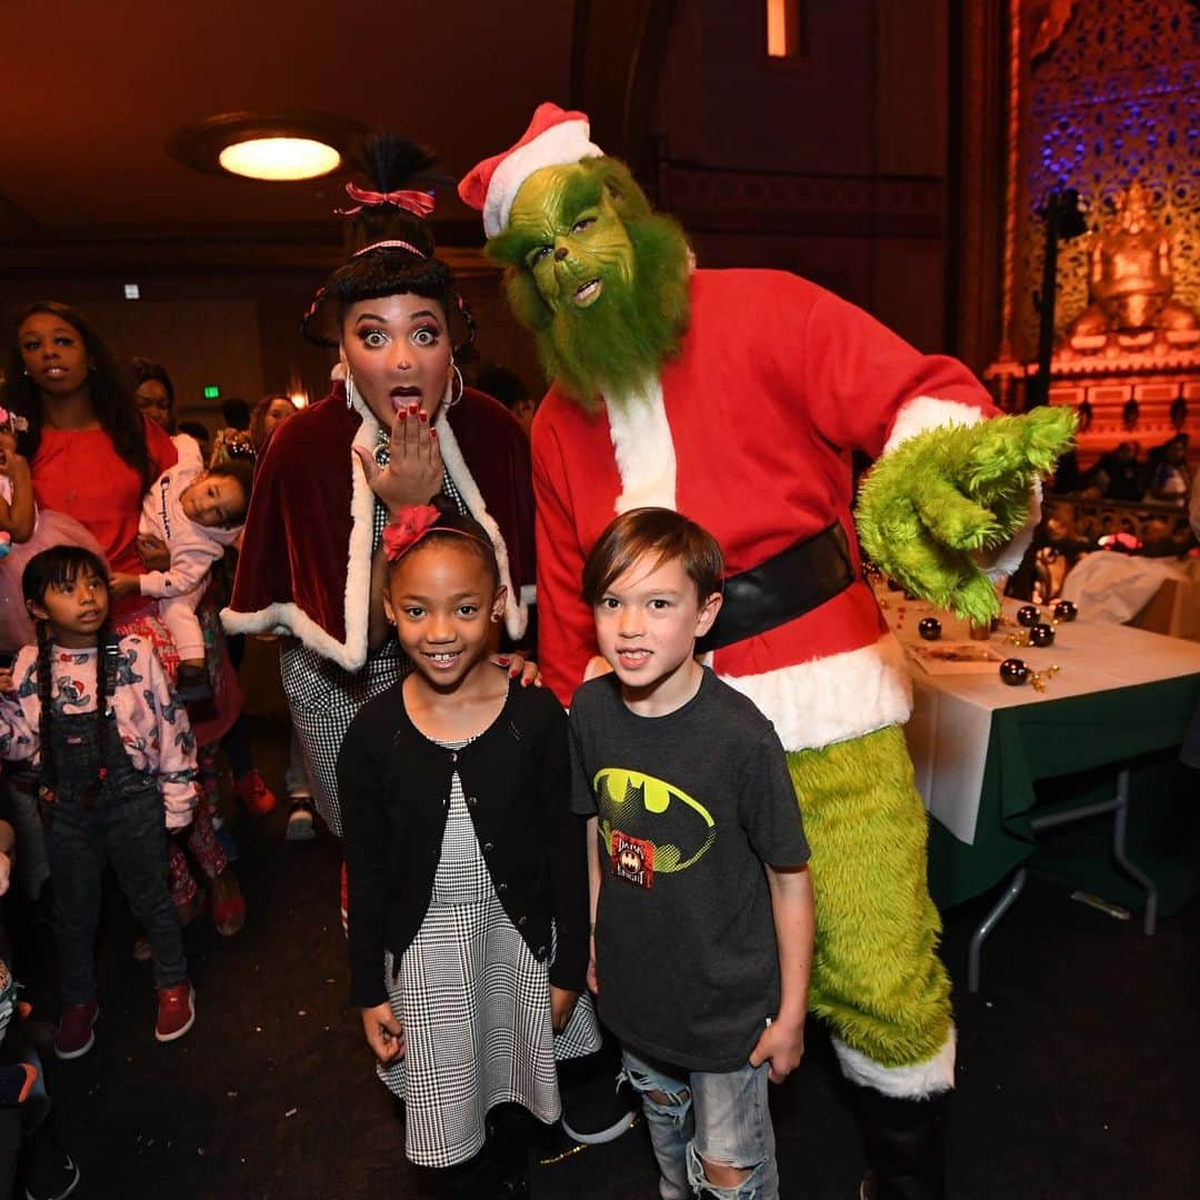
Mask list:
[[[571,805],[600,826],[600,1015],[635,1051],[739,1069],[779,1008],[763,863],[809,858],[774,727],[708,670],[654,718],[607,674],[575,694],[571,755]]]

